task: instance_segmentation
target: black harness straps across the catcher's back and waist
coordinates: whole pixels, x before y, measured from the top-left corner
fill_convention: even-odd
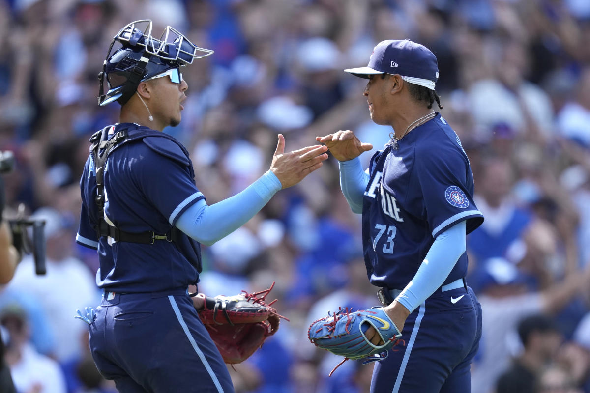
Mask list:
[[[106,166],[107,157],[113,151],[113,149],[126,141],[135,139],[127,138],[127,130],[123,129],[113,135],[107,140],[107,134],[109,130],[114,126],[107,126],[103,130],[97,131],[90,138],[90,153],[94,160],[94,171],[96,173],[96,197],[94,202],[99,207],[99,223],[94,226],[96,230],[96,236],[110,236],[115,242],[130,242],[130,243],[142,243],[146,245],[153,245],[156,240],[168,240],[168,242],[175,242],[180,239],[181,231],[172,227],[168,233],[164,235],[157,235],[153,230],[146,232],[126,232],[120,230],[119,227],[110,225],[104,220],[104,168]],[[147,136],[147,135],[146,135]]]

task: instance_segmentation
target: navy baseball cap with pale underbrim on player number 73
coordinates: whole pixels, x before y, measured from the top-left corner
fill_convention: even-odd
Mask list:
[[[373,48],[366,67],[344,71],[366,79],[369,75],[399,74],[409,83],[434,90],[438,80],[438,61],[430,49],[411,39],[387,39]]]

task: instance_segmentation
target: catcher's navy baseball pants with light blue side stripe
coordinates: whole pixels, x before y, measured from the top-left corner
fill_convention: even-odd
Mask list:
[[[120,392],[233,392],[221,354],[186,290],[106,292],[90,349]]]

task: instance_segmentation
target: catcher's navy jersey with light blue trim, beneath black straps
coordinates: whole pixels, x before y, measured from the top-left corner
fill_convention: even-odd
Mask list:
[[[117,124],[109,137],[127,128],[129,139],[109,154],[104,170],[104,216],[107,223],[126,232],[153,231],[163,235],[179,216],[204,196],[194,183],[186,150],[171,136],[135,124]],[[76,241],[98,249],[99,288],[114,292],[156,292],[186,288],[198,282],[201,249],[181,234],[175,242],[156,240],[152,245],[97,239],[96,177],[92,156],[80,180],[82,210]]]

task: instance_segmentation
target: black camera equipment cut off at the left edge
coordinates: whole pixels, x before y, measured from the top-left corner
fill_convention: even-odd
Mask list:
[[[0,151],[0,174],[10,173],[14,169],[15,158],[12,151]],[[2,184],[2,208],[4,207],[4,184]],[[1,210],[0,210],[1,212]],[[20,255],[31,254],[35,261],[35,273],[47,273],[45,266],[45,220],[34,220],[25,216],[25,205],[19,204],[17,216],[8,219],[12,232],[12,244]],[[32,228],[30,236],[28,228]]]

